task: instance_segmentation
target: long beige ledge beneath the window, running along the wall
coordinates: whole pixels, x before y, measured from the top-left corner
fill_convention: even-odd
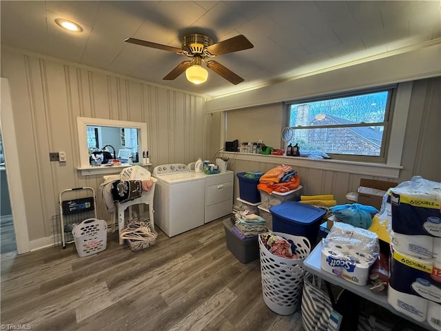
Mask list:
[[[384,163],[368,163],[342,161],[333,159],[308,159],[306,157],[286,157],[280,155],[263,155],[252,153],[223,152],[225,157],[241,161],[254,161],[263,163],[298,165],[305,168],[329,170],[336,172],[348,172],[351,174],[363,174],[373,177],[398,178],[402,165],[388,165]]]

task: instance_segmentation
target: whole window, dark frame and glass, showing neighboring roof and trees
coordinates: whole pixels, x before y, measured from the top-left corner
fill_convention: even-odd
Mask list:
[[[287,143],[321,150],[332,159],[384,161],[395,87],[287,103]]]

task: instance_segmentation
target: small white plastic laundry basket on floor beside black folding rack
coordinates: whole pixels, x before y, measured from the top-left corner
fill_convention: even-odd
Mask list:
[[[85,219],[72,230],[76,252],[87,257],[105,250],[107,245],[107,223],[103,219]]]

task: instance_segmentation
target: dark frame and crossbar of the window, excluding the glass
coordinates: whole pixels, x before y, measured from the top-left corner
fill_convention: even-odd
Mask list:
[[[355,162],[367,162],[367,163],[387,163],[389,143],[391,137],[391,128],[393,124],[393,109],[396,105],[396,96],[397,96],[398,84],[389,84],[386,86],[378,86],[376,88],[363,88],[358,90],[349,90],[346,92],[336,92],[329,94],[316,95],[314,97],[293,99],[289,101],[283,102],[283,128],[289,126],[289,117],[291,114],[290,108],[293,105],[298,105],[300,103],[310,103],[315,101],[324,101],[329,99],[340,99],[344,97],[353,97],[356,95],[363,94],[371,94],[374,92],[388,92],[387,102],[384,111],[384,120],[382,122],[376,123],[366,123],[363,125],[359,124],[342,124],[341,126],[289,126],[294,130],[296,129],[319,129],[319,128],[351,128],[351,127],[366,127],[366,126],[378,126],[381,125],[384,127],[383,130],[383,139],[380,147],[380,155],[371,156],[371,155],[353,155],[353,154],[334,154],[328,153],[329,157],[334,160],[341,161],[355,161]],[[283,146],[283,141],[281,141]],[[301,148],[301,146],[300,146]],[[301,150],[300,150],[301,151]],[[325,151],[326,152],[326,151]]]

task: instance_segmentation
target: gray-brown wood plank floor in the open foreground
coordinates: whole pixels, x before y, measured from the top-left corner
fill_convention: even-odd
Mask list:
[[[240,263],[222,219],[132,252],[79,257],[74,244],[1,261],[1,323],[34,330],[303,330],[265,305],[259,261]]]

